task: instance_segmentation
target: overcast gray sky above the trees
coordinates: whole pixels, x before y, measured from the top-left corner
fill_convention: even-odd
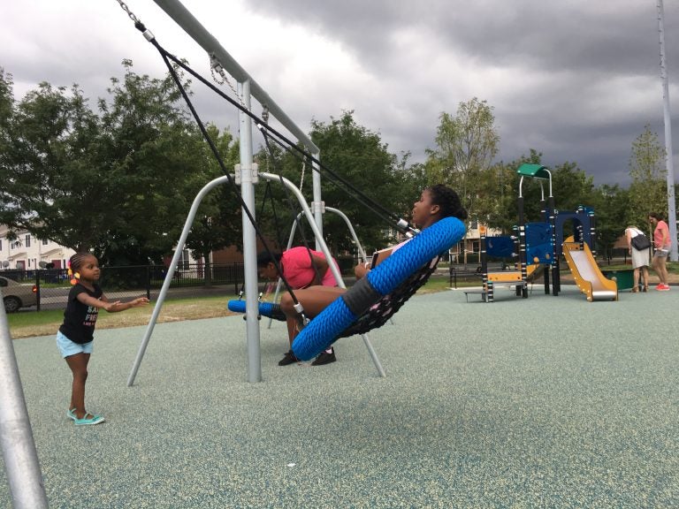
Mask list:
[[[210,76],[208,57],[149,0],[127,6],[165,49]],[[287,115],[309,132],[343,110],[394,154],[423,161],[442,111],[478,97],[493,108],[505,162],[535,148],[576,162],[595,184],[629,183],[632,142],[646,124],[664,143],[654,0],[185,0]],[[679,150],[679,5],[665,5],[674,148]],[[116,0],[4,1],[0,65],[21,98],[40,81],[106,95],[120,62],[162,77],[156,49]],[[195,87],[205,120],[233,107]],[[221,100],[219,100],[221,101]],[[253,110],[259,114],[257,106]],[[259,141],[256,141],[258,144]],[[555,195],[557,195],[556,190]]]

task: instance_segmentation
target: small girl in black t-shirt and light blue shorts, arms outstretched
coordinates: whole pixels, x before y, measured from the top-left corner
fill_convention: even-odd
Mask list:
[[[66,415],[77,426],[99,424],[104,421],[101,415],[85,411],[85,382],[88,379],[89,355],[92,353],[93,334],[99,309],[109,313],[137,308],[149,303],[146,297],[129,302],[110,302],[102,289],[96,284],[99,280],[99,262],[90,253],[76,253],[69,261],[72,271],[71,292],[64,312],[64,323],[57,332],[57,346],[62,357],[73,373],[71,406]]]

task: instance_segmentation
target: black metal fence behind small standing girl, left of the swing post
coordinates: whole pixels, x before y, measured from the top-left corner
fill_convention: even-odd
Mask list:
[[[218,263],[209,267],[182,264],[172,275],[167,299],[235,295],[243,285],[243,263]],[[99,285],[110,300],[145,295],[155,300],[168,270],[162,265],[102,267]],[[63,309],[71,288],[66,269],[0,270],[0,276],[21,284],[35,285],[36,304],[26,310]]]

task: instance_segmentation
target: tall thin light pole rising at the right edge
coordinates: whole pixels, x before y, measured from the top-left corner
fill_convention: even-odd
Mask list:
[[[658,0],[658,32],[660,34],[660,79],[662,80],[662,99],[665,111],[665,161],[668,169],[668,226],[672,247],[669,259],[677,261],[676,210],[675,210],[675,163],[672,153],[672,117],[669,110],[668,67],[665,62],[665,10],[662,0]]]

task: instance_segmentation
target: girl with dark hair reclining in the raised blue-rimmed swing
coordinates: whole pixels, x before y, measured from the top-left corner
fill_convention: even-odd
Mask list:
[[[416,201],[413,205],[411,223],[423,230],[444,217],[457,217],[461,221],[467,218],[467,211],[462,207],[460,197],[453,189],[443,184],[424,188],[419,201]],[[403,244],[405,242],[394,247],[392,253]],[[356,277],[361,278],[365,276],[368,270],[370,270],[370,264],[359,264],[354,271]],[[347,292],[345,288],[337,286],[309,286],[309,288],[295,290],[294,295],[304,308],[304,314],[308,318],[313,318],[344,292]],[[297,312],[294,309],[294,302],[288,293],[282,296],[280,308],[288,320],[296,319]],[[294,355],[292,351],[289,354]]]

